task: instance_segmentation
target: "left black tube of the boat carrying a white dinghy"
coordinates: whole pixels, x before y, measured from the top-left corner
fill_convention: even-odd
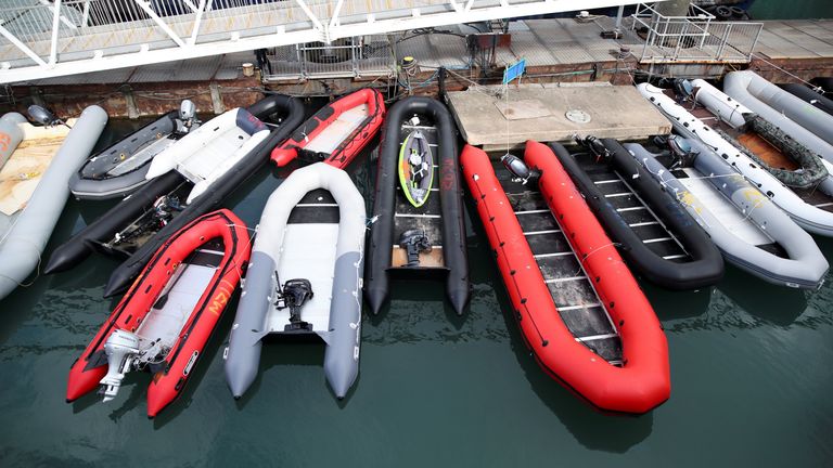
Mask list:
[[[117,232],[149,210],[161,196],[170,193],[184,181],[185,178],[179,172],[170,171],[148,182],[107,210],[101,218],[57,246],[49,257],[43,273],[59,273],[77,265],[95,251],[98,244],[113,238]]]

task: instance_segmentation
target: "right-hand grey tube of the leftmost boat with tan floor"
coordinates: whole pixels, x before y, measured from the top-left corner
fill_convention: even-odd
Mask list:
[[[107,113],[99,106],[84,109],[26,207],[16,214],[0,244],[0,299],[17,287],[40,263],[69,196],[69,178],[92,152]]]

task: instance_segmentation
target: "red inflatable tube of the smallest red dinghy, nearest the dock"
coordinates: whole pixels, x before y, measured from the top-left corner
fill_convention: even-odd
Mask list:
[[[297,158],[304,147],[332,125],[345,110],[367,104],[368,117],[330,154],[313,155],[330,166],[344,169],[379,132],[385,119],[385,101],[382,93],[374,89],[364,88],[347,94],[318,110],[312,117],[300,125],[283,144],[272,150],[272,160],[278,167],[283,167]]]

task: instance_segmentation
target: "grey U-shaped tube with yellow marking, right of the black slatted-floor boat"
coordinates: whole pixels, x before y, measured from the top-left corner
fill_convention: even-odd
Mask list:
[[[712,236],[726,260],[769,283],[781,286],[816,289],[828,272],[828,261],[808,233],[795,224],[786,213],[770,202],[715,152],[693,139],[685,139],[700,154],[694,169],[748,217],[787,253],[782,258],[747,243],[732,233],[722,220],[697,199],[665,166],[656,155],[639,144],[625,147],[648,171],[674,194],[680,205]]]

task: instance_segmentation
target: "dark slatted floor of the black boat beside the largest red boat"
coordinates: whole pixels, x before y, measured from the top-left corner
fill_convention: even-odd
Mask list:
[[[682,243],[627,182],[630,174],[619,174],[608,164],[595,164],[590,155],[577,155],[576,159],[649,250],[678,263],[691,260]]]

